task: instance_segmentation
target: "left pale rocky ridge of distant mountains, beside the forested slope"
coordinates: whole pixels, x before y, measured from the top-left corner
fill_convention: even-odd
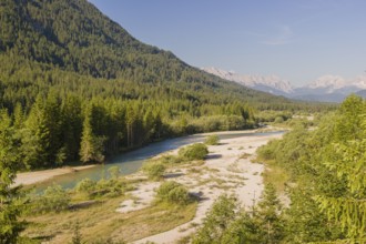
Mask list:
[[[276,75],[237,74],[235,72],[224,71],[217,68],[203,68],[202,70],[258,91],[268,92],[276,95],[293,93],[293,88],[289,82],[282,80]]]

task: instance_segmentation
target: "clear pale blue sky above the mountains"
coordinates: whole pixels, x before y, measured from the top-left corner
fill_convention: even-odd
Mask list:
[[[299,87],[366,71],[365,0],[89,0],[184,62]]]

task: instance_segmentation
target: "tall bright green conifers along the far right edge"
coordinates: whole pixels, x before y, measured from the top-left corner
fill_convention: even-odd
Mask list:
[[[326,149],[327,170],[344,182],[343,194],[319,194],[328,217],[340,222],[352,240],[366,237],[366,102],[352,95],[340,106],[335,142]]]

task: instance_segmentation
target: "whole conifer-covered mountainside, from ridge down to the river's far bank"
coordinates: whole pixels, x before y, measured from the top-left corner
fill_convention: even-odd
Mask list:
[[[87,0],[2,0],[0,106],[29,167],[101,162],[166,136],[324,109],[243,88],[143,44]]]

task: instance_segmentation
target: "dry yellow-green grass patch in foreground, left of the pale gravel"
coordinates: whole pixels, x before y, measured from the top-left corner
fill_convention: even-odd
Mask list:
[[[116,213],[115,210],[125,199],[111,199],[78,211],[27,217],[30,224],[23,234],[40,242],[70,243],[78,222],[85,242],[93,241],[95,236],[131,242],[191,221],[197,206],[197,203],[185,206],[160,203],[135,212]]]

